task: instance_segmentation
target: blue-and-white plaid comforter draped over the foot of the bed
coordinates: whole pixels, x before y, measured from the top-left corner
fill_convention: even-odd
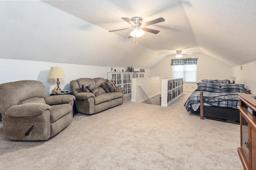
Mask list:
[[[194,91],[186,100],[184,107],[190,111],[191,105],[196,104],[196,109],[200,106],[200,91]],[[239,98],[233,92],[208,92],[204,91],[204,106],[217,106],[223,108],[235,108],[239,106]],[[196,110],[194,110],[196,111]]]

